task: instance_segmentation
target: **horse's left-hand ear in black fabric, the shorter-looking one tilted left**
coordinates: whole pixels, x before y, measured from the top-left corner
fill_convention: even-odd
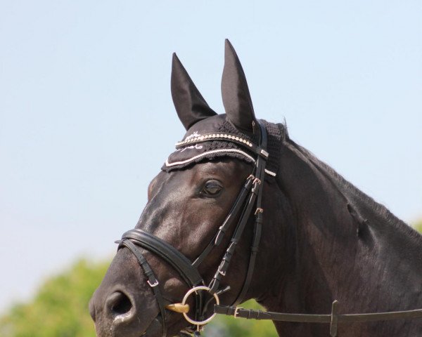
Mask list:
[[[216,114],[193,84],[176,53],[173,53],[171,86],[174,107],[186,130],[197,121]]]

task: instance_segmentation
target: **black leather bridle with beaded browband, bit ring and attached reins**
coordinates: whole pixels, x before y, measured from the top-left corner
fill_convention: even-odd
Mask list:
[[[224,222],[215,236],[212,238],[205,249],[200,253],[198,258],[191,262],[184,254],[175,249],[172,245],[163,241],[159,237],[146,232],[141,229],[134,229],[125,232],[122,239],[117,241],[119,244],[118,249],[127,247],[131,251],[141,265],[144,274],[146,275],[147,283],[151,286],[155,299],[157,300],[162,318],[162,337],[167,336],[166,326],[166,309],[176,312],[181,312],[185,319],[191,324],[189,328],[195,333],[196,336],[200,335],[200,328],[210,322],[215,315],[231,315],[234,317],[242,317],[246,319],[271,319],[273,321],[283,322],[307,322],[307,323],[329,323],[330,336],[337,336],[337,328],[339,322],[373,322],[380,320],[390,319],[404,319],[404,318],[420,318],[422,317],[422,309],[420,310],[407,310],[399,312],[377,312],[369,314],[351,314],[351,315],[338,315],[338,301],[334,301],[329,315],[307,315],[307,314],[290,314],[281,312],[264,312],[261,310],[248,310],[237,307],[245,299],[246,293],[252,282],[252,275],[255,268],[255,260],[257,257],[258,246],[260,244],[260,237],[262,231],[262,190],[265,178],[265,166],[269,153],[267,152],[267,130],[261,121],[257,121],[259,131],[258,144],[252,143],[250,140],[241,138],[231,133],[208,133],[202,136],[189,138],[188,140],[181,141],[176,144],[176,148],[180,149],[186,146],[196,145],[198,143],[209,142],[210,140],[222,140],[225,142],[235,143],[252,152],[256,156],[255,165],[252,173],[245,180],[241,191],[238,193],[236,201],[231,206],[229,214],[226,216]],[[254,211],[255,210],[255,211]],[[245,225],[252,214],[255,213],[255,225],[253,230],[252,245],[250,249],[250,258],[248,270],[246,272],[245,280],[242,289],[238,294],[236,300],[232,305],[220,305],[219,295],[229,291],[230,287],[219,289],[222,277],[226,275],[231,262],[231,258],[236,250],[236,246],[241,239]],[[230,239],[229,246],[226,247],[224,256],[219,263],[215,275],[212,277],[210,283],[205,285],[205,280],[198,272],[200,263],[209,256],[210,252],[216,246],[222,243],[224,234],[233,227],[235,220],[238,219],[234,232]],[[153,270],[148,264],[146,258],[142,255],[139,247],[150,251],[162,260],[169,263],[174,270],[177,270],[181,278],[188,285],[189,290],[184,296],[181,303],[174,303],[165,305],[164,297],[162,296],[159,281],[155,276]],[[207,291],[212,296],[209,300],[205,301],[203,291]],[[189,305],[186,304],[188,297],[194,296],[194,319],[188,316],[190,312]],[[205,313],[212,300],[215,300],[214,313],[205,318]]]

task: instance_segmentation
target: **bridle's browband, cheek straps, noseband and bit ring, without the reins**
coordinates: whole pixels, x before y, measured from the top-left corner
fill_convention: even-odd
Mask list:
[[[158,257],[165,260],[174,268],[174,270],[179,272],[181,278],[184,280],[184,282],[186,282],[190,290],[188,293],[186,293],[184,300],[182,303],[180,303],[179,306],[181,307],[181,312],[183,312],[186,320],[193,324],[191,329],[196,328],[195,333],[198,334],[200,326],[207,324],[207,322],[210,322],[210,320],[215,316],[215,314],[213,314],[211,317],[205,319],[205,312],[207,311],[210,300],[205,302],[203,291],[210,293],[213,298],[215,298],[216,304],[218,305],[219,294],[230,289],[230,287],[226,287],[226,289],[219,289],[219,285],[222,278],[226,275],[226,272],[229,269],[231,258],[234,254],[234,251],[236,250],[236,246],[239,240],[241,239],[245,225],[248,222],[252,211],[255,211],[255,228],[252,239],[252,246],[250,249],[248,270],[246,272],[245,281],[243,282],[243,287],[237,299],[235,300],[234,305],[242,303],[243,299],[245,298],[245,295],[250,286],[250,282],[252,281],[255,259],[260,243],[263,211],[261,207],[262,190],[265,178],[265,165],[267,164],[267,159],[269,157],[267,152],[267,130],[260,121],[258,121],[258,125],[260,130],[260,140],[257,145],[253,144],[249,140],[245,140],[231,133],[205,134],[203,136],[191,138],[188,141],[183,141],[176,144],[178,149],[186,145],[195,145],[210,140],[224,140],[226,142],[235,143],[236,145],[241,145],[241,147],[256,155],[255,166],[252,170],[252,173],[250,176],[248,176],[245,183],[243,184],[243,187],[241,188],[236,201],[234,202],[233,206],[231,206],[229,214],[226,216],[224,222],[219,227],[217,233],[212,238],[210,243],[205,247],[203,252],[200,253],[198,258],[193,261],[193,263],[172,245],[163,241],[159,237],[155,237],[155,235],[141,229],[134,229],[125,232],[122,235],[122,239],[117,242],[119,244],[119,249],[122,247],[127,247],[127,249],[129,249],[129,251],[134,254],[139,262],[139,265],[141,265],[144,274],[146,275],[148,284],[153,289],[153,293],[157,300],[162,317],[163,337],[166,336],[167,331],[165,322],[166,307],[164,299],[160,291],[160,286],[158,286],[158,279],[155,277],[150,265],[148,265],[146,258],[143,257],[139,247],[146,249],[147,251],[151,251],[151,253],[154,253]],[[201,277],[200,273],[198,272],[198,266],[203,262],[203,260],[205,260],[205,258],[207,258],[210,251],[212,251],[214,247],[221,244],[224,234],[232,227],[234,220],[237,218],[238,222],[234,229],[234,234],[231,237],[230,244],[226,248],[226,252],[224,253],[223,258],[219,263],[219,267],[217,268],[214,277],[212,277],[210,284],[206,286],[203,277]],[[188,306],[186,305],[187,298],[191,294],[193,294],[195,298],[195,308],[193,311],[195,319],[191,319],[191,317],[188,316],[189,310]]]

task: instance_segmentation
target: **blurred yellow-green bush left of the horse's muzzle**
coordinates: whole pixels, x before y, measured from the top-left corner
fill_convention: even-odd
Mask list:
[[[108,263],[79,260],[47,279],[30,303],[14,305],[0,318],[2,337],[94,337],[88,303]]]

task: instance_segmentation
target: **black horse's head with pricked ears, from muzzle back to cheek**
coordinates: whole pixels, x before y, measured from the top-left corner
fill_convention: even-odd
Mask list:
[[[136,225],[139,231],[127,234],[129,239],[125,242],[129,242],[129,247],[120,242],[120,249],[91,299],[90,311],[98,336],[139,337],[143,333],[160,336],[164,327],[169,336],[193,331],[195,325],[187,322],[181,313],[160,308],[180,303],[192,286],[210,286],[211,292],[219,294],[221,303],[225,304],[262,296],[254,280],[250,280],[245,289],[255,213],[261,218],[262,208],[274,209],[271,218],[277,222],[288,214],[283,211],[283,195],[274,180],[278,156],[275,152],[279,150],[276,143],[284,136],[284,126],[255,118],[245,74],[229,41],[226,41],[222,77],[226,114],[216,114],[207,105],[175,54],[171,88],[174,106],[187,132],[148,187],[148,202]],[[260,164],[267,158],[257,153],[266,151],[259,147],[262,132],[266,133],[265,142],[271,147],[267,149],[272,156],[266,163],[267,169]],[[253,189],[266,192],[264,195],[255,192],[255,195]],[[264,206],[257,210],[256,201],[251,202],[250,198],[255,200],[258,195]],[[253,209],[244,214],[248,203]],[[266,218],[266,225],[275,221],[271,218]],[[244,228],[239,228],[240,220]],[[282,230],[274,223],[274,232],[264,234],[261,241],[273,241],[274,234],[279,237]],[[241,235],[234,244],[234,234],[239,231]],[[138,234],[143,236],[138,237],[143,244],[136,241]],[[163,253],[148,246],[148,237],[145,237],[148,234],[153,237],[149,238],[151,245],[165,245],[161,247]],[[135,246],[138,245],[136,248],[131,238]],[[233,248],[228,253],[231,244]],[[288,244],[282,246],[288,247]],[[173,257],[172,249],[177,251]],[[137,253],[142,257],[137,258]],[[232,255],[229,256],[231,262],[226,258],[227,267],[222,266],[222,259],[228,254]],[[273,266],[264,260],[270,255],[269,251],[260,253],[254,268],[255,272],[266,275],[267,284],[280,281],[278,277],[267,277],[266,269]],[[139,261],[143,258],[148,263],[147,268],[151,267],[153,279],[148,279],[148,272],[143,270]],[[182,265],[172,265],[172,259],[179,259]],[[184,272],[189,274],[191,264],[198,273],[183,275]],[[158,289],[158,296],[162,296],[159,301],[155,293]],[[203,321],[212,313],[212,305],[202,308],[212,295],[201,292],[204,294],[200,299],[190,296],[186,303],[191,308],[186,314],[192,320]],[[198,301],[202,304],[196,303]]]

